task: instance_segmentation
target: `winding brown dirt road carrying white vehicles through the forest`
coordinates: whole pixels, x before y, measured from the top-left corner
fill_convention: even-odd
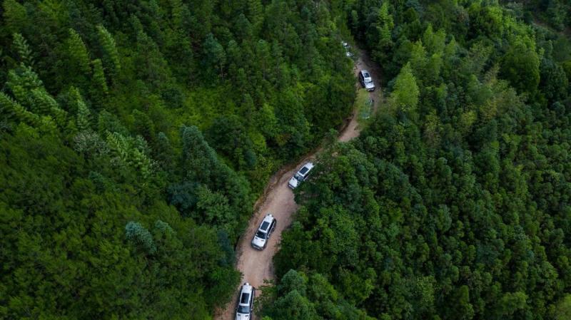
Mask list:
[[[355,67],[353,69],[357,88],[360,88],[360,83],[357,81],[357,74],[362,69],[367,69],[372,74],[373,81],[377,83],[376,90],[369,93],[370,98],[374,101],[374,113],[382,98],[379,77],[380,68],[370,61],[370,58],[364,51],[361,51],[359,58],[355,61]],[[358,137],[361,130],[358,123],[358,115],[358,110],[353,110],[353,115],[350,120],[348,120],[343,129],[340,130],[338,135],[339,141],[346,142]],[[298,205],[295,203],[293,197],[293,192],[288,187],[288,180],[301,165],[306,161],[315,158],[315,155],[319,152],[320,149],[314,150],[312,153],[306,155],[303,160],[298,162],[295,167],[289,165],[288,167],[278,171],[276,175],[271,177],[268,185],[266,186],[266,191],[256,202],[254,210],[255,213],[250,222],[248,222],[248,229],[238,240],[238,245],[236,246],[236,267],[240,272],[242,272],[241,283],[249,282],[253,287],[259,288],[264,284],[264,279],[274,279],[273,255],[278,251],[283,230],[289,227],[292,222],[293,213],[298,209]],[[265,217],[268,212],[271,212],[278,222],[276,224],[276,229],[268,240],[266,249],[258,251],[251,247],[250,242],[253,234],[260,225],[261,220],[263,220],[263,217]],[[217,320],[234,319],[236,299],[238,299],[238,291],[236,291],[235,297],[230,303],[228,303],[225,309],[216,311],[214,318]]]

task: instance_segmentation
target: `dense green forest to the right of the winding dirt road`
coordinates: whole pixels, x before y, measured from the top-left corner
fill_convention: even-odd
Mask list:
[[[570,12],[346,1],[386,98],[295,190],[265,320],[571,319]]]

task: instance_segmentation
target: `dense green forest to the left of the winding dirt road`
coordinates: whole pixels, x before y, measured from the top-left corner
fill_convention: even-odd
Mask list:
[[[0,319],[211,319],[268,177],[350,114],[339,8],[1,2]]]

